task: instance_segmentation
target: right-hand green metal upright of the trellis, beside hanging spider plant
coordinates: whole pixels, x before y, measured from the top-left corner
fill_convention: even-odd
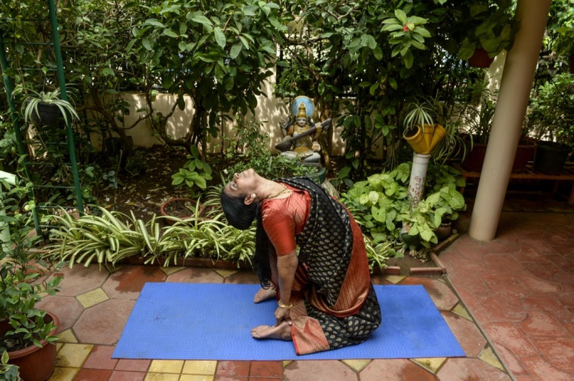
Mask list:
[[[58,83],[60,85],[61,99],[67,101],[68,94],[66,93],[66,84],[64,77],[64,64],[62,62],[62,52],[60,50],[60,36],[58,34],[58,21],[56,19],[56,7],[54,0],[48,0],[50,9],[50,23],[52,25],[52,40],[54,42],[54,53],[56,54],[56,65],[58,73]],[[76,192],[77,209],[80,214],[84,213],[84,206],[82,202],[82,188],[80,187],[80,177],[77,171],[76,150],[73,144],[73,132],[71,125],[71,116],[68,115],[66,123],[66,132],[68,134],[68,151],[70,154],[70,163],[72,164],[73,184]]]

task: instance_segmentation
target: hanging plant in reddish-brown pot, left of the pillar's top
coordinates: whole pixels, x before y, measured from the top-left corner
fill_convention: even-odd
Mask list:
[[[479,68],[488,68],[503,49],[512,47],[518,26],[509,0],[463,2],[459,22],[464,36],[459,58]]]

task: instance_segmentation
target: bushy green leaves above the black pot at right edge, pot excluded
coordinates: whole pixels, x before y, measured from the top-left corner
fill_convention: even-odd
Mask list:
[[[537,139],[574,147],[574,77],[558,74],[541,85],[530,99],[527,120]]]

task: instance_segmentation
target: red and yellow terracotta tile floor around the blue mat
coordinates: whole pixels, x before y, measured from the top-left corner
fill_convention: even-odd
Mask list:
[[[64,293],[40,307],[63,321],[60,380],[572,380],[574,214],[503,213],[492,242],[463,235],[440,254],[448,275],[378,276],[422,284],[467,358],[292,362],[111,359],[146,281],[257,283],[234,270],[123,266],[65,269]],[[452,284],[452,285],[451,285]],[[65,319],[63,319],[65,317]],[[499,361],[499,359],[502,360]]]

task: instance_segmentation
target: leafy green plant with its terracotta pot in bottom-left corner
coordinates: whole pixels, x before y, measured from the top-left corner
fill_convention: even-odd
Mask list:
[[[9,364],[20,367],[22,379],[44,381],[54,370],[59,321],[35,305],[42,295],[55,294],[61,277],[42,280],[49,266],[31,253],[38,242],[30,234],[34,203],[22,203],[30,185],[2,191],[0,197],[6,210],[0,221],[10,228],[10,240],[2,242],[0,252],[0,351],[7,351]]]

